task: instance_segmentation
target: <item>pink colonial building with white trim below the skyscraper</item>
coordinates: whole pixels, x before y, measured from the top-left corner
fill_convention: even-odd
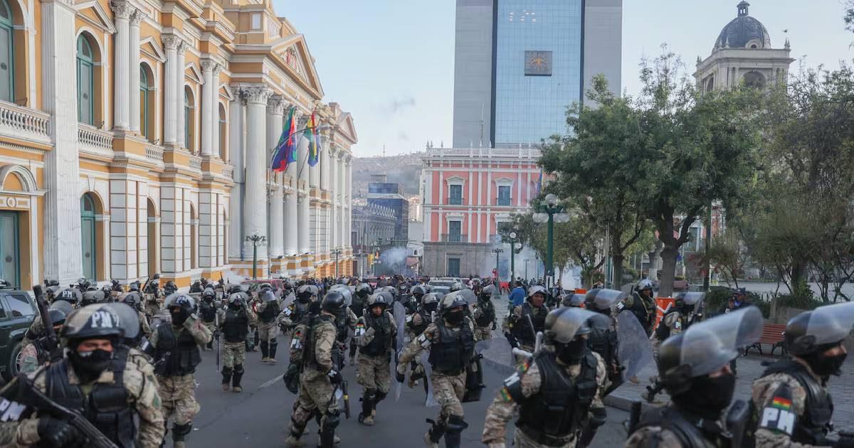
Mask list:
[[[424,275],[492,274],[499,225],[527,210],[539,193],[539,159],[538,148],[427,148]]]

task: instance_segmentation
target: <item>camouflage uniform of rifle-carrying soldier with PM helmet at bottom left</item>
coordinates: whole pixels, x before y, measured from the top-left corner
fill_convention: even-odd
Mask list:
[[[27,374],[33,387],[42,392],[46,391],[46,367]],[[80,384],[73,369],[67,369],[68,383]],[[95,383],[111,384],[114,371],[107,369],[97,378]],[[138,416],[139,428],[137,441],[143,448],[155,448],[161,445],[165,432],[161,398],[157,393],[157,380],[151,364],[141,364],[132,361],[128,356],[122,373],[122,382],[127,391],[127,405]],[[10,383],[14,384],[14,383]],[[3,389],[5,391],[6,388]],[[38,445],[38,417],[31,416],[21,422],[0,422],[0,446],[8,448],[23,448]]]

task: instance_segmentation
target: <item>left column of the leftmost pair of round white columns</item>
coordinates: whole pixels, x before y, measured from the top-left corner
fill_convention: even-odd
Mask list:
[[[127,85],[131,81],[130,75],[130,60],[126,49],[130,48],[130,18],[134,11],[130,2],[116,1],[110,2],[110,8],[113,9],[115,22],[115,72],[113,77],[114,83],[114,123],[113,126],[117,129],[127,129],[129,125],[130,103],[128,96],[131,91]],[[137,47],[137,52],[139,51]],[[138,83],[137,83],[138,89]],[[139,94],[137,93],[137,96]]]

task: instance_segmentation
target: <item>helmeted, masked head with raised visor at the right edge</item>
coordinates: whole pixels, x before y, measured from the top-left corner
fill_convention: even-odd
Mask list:
[[[810,364],[816,375],[839,375],[847,353],[844,349],[828,351],[840,346],[851,334],[852,325],[854,303],[820,306],[789,320],[784,344],[789,353]]]

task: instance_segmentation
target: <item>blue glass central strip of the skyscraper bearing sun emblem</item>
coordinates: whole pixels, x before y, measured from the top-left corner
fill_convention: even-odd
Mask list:
[[[566,131],[582,94],[582,0],[496,0],[492,141],[540,143]]]

